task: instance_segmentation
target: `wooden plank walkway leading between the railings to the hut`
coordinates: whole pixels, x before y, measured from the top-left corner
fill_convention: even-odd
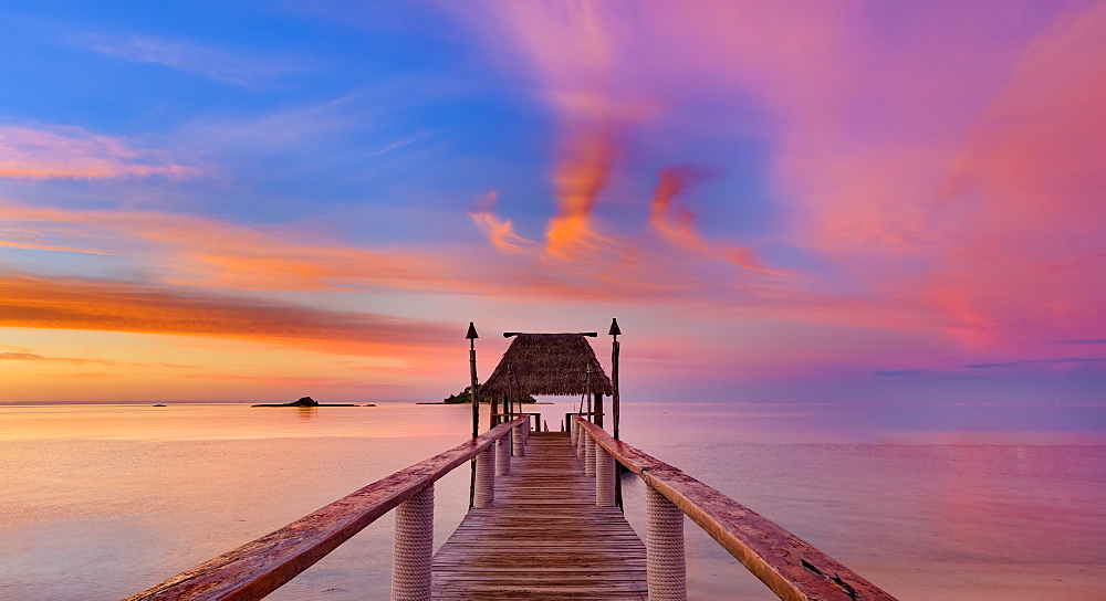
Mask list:
[[[568,434],[532,433],[434,557],[434,599],[645,600],[645,545],[617,507],[595,506]]]

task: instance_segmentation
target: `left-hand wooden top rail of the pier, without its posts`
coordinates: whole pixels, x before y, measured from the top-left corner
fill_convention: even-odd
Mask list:
[[[261,599],[427,485],[479,455],[523,420],[502,423],[124,601]]]

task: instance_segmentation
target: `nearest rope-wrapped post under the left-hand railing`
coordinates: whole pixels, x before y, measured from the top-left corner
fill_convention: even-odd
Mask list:
[[[434,553],[434,484],[396,507],[392,601],[429,601]]]

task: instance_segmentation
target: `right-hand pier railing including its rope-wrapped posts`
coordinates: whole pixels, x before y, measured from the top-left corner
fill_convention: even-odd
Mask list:
[[[684,516],[785,601],[894,601],[894,597],[778,524],[667,463],[572,418],[572,440],[594,475],[595,500],[614,505],[617,461],[645,482],[650,601],[687,599]]]

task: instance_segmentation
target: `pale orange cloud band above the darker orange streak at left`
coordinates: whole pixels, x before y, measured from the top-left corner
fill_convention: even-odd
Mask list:
[[[178,285],[285,291],[376,285],[449,291],[469,271],[460,261],[430,252],[312,244],[299,242],[310,240],[302,229],[255,229],[156,211],[59,210],[0,201],[0,217],[27,223],[25,230],[39,239],[34,247],[76,251],[80,246],[80,252],[90,254],[142,256],[165,282]],[[54,243],[55,238],[70,243]]]

